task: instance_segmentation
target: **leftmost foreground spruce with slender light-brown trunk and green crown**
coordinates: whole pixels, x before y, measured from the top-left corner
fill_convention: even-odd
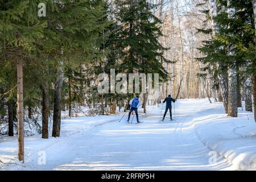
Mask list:
[[[24,161],[23,64],[43,37],[46,22],[36,15],[37,1],[0,2],[0,44],[5,59],[17,65],[18,79],[18,159]]]

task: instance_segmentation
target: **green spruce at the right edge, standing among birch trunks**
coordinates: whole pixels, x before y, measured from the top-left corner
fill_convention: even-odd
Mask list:
[[[253,27],[253,9],[251,1],[211,1],[216,5],[216,16],[212,17],[213,28],[205,28],[199,30],[204,34],[212,35],[212,40],[203,42],[203,47],[199,48],[201,53],[205,57],[200,57],[198,60],[206,65],[205,70],[214,68],[209,73],[217,72],[218,75],[226,75],[226,71],[229,71],[229,97],[224,96],[224,106],[226,113],[236,117],[237,103],[240,100],[240,86],[247,90],[246,104],[250,105],[248,101],[250,97],[251,89],[248,90],[248,84],[250,85],[250,77],[255,72],[254,60],[254,27]],[[233,9],[232,15],[228,14],[227,10]],[[214,9],[213,9],[214,10]],[[213,11],[204,11],[205,14],[213,13]],[[208,16],[210,20],[210,16]],[[216,65],[216,66],[213,66]],[[230,74],[234,73],[234,74]],[[219,77],[220,78],[220,77]],[[233,82],[232,80],[240,78],[239,82]],[[223,82],[219,79],[220,88],[225,89]],[[246,81],[247,86],[243,86],[243,82]],[[231,99],[232,97],[232,99]],[[229,98],[228,104],[225,104],[225,98]],[[235,103],[236,102],[236,103]],[[233,111],[231,112],[231,108]],[[248,106],[250,108],[250,106]]]

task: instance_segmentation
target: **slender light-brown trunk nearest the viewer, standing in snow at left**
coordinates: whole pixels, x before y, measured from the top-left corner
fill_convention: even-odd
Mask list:
[[[23,121],[23,61],[20,56],[17,63],[18,78],[18,159],[24,162],[24,121]]]

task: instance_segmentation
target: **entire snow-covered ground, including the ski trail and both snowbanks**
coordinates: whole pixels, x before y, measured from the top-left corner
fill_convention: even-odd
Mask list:
[[[252,113],[240,110],[238,118],[231,118],[223,114],[221,103],[179,100],[175,120],[168,121],[167,114],[166,121],[159,122],[161,109],[148,106],[139,124],[135,117],[128,124],[127,115],[121,122],[122,115],[63,119],[61,137],[25,138],[25,163],[16,158],[17,138],[0,138],[0,169],[256,169]]]

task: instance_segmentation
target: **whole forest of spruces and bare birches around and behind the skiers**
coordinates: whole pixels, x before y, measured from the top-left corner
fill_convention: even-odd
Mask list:
[[[0,136],[18,136],[22,161],[27,136],[126,113],[135,96],[144,114],[171,95],[256,122],[255,30],[256,0],[0,0]],[[98,75],[112,69],[158,73],[158,98],[99,93]]]

